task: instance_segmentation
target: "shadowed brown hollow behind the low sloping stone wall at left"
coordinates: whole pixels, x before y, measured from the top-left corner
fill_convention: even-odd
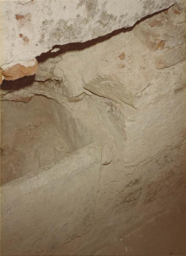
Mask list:
[[[79,119],[53,99],[1,101],[1,184],[49,169],[89,145]]]

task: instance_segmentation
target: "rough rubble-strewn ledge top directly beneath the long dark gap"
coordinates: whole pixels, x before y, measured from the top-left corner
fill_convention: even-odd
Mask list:
[[[77,53],[64,53],[54,67],[55,78],[63,80],[69,97],[89,90],[134,108],[143,102],[156,101],[160,94],[164,97],[170,90],[170,87],[164,87],[170,80],[170,73],[169,70],[161,70],[186,58],[185,11],[180,8],[180,15],[177,15],[173,9],[175,6],[168,13],[161,12],[143,20],[129,32],[121,32]],[[161,25],[155,23],[156,20]],[[184,65],[180,65],[177,76],[170,81],[174,90],[183,87],[183,70]],[[182,85],[177,82],[178,78]],[[154,93],[150,93],[153,90]]]

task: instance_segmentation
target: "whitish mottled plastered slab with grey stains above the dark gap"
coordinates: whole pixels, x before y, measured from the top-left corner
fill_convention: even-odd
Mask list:
[[[85,42],[133,26],[174,3],[175,0],[1,1],[0,67],[5,70],[43,52],[55,51],[52,47],[56,45]],[[33,74],[32,69],[25,73],[29,74]],[[18,71],[17,76],[22,74]],[[6,74],[2,79],[7,79]]]

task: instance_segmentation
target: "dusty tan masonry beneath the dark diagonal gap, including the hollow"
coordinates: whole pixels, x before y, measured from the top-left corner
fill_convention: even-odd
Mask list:
[[[3,161],[12,163],[1,187],[3,255],[132,255],[138,247],[127,252],[111,241],[185,198],[184,12],[179,3],[105,40],[59,48],[38,60],[36,76],[3,81]],[[177,49],[175,59],[168,56]],[[159,68],[160,56],[169,64]],[[38,109],[30,126],[23,125],[27,105]],[[52,127],[38,127],[30,140],[45,116]],[[32,154],[23,154],[24,138],[15,140],[23,129],[28,145],[40,145]],[[50,151],[59,143],[68,152]],[[20,153],[30,168],[15,178]]]

